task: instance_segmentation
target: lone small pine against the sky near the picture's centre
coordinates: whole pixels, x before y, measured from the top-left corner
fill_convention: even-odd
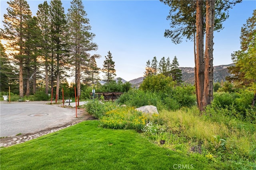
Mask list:
[[[116,76],[115,62],[112,60],[112,54],[108,51],[108,55],[105,56],[102,72],[105,73],[104,81],[111,82]]]

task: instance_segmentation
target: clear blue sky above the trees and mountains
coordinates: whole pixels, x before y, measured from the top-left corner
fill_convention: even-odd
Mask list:
[[[6,2],[0,0],[1,28],[8,7]],[[33,15],[43,2],[28,0]],[[62,1],[65,12],[70,2]],[[194,67],[193,43],[183,39],[181,44],[175,45],[164,37],[165,29],[170,28],[170,21],[166,20],[170,7],[160,1],[84,0],[83,4],[91,32],[96,34],[94,42],[98,44],[98,50],[91,54],[102,56],[97,60],[99,67],[102,68],[108,51],[116,64],[116,76],[126,81],[143,76],[146,62],[154,56],[158,61],[162,57],[170,57],[172,61],[176,56],[181,67]],[[224,29],[214,32],[214,66],[232,63],[231,53],[240,49],[241,27],[255,9],[255,0],[244,0],[230,9]]]

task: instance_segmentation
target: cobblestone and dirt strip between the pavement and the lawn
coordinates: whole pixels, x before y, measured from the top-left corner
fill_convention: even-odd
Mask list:
[[[41,131],[36,131],[33,133],[20,134],[20,135],[16,135],[15,137],[2,137],[0,138],[0,147],[9,147],[12,145],[16,145],[18,143],[23,143],[31,139],[40,137],[42,135],[46,135],[46,134],[64,129],[66,127],[70,127],[81,121],[95,120],[95,119],[96,118],[94,116],[89,115],[86,111],[84,111],[84,109],[82,110],[80,109],[80,112],[78,112],[78,118],[73,119],[72,121],[70,121],[69,123],[66,123],[65,125],[58,126],[58,127],[51,127],[51,128],[43,129]]]

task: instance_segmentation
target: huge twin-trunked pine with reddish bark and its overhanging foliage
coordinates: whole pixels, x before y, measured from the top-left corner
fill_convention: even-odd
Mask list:
[[[174,43],[180,43],[183,37],[194,40],[196,98],[198,108],[203,111],[213,100],[213,31],[223,28],[228,9],[241,0],[160,1],[171,7],[167,19],[171,20],[172,29],[165,31],[165,37]]]

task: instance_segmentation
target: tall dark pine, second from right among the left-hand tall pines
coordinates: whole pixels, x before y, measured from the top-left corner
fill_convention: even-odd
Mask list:
[[[67,45],[67,21],[62,2],[60,0],[51,0],[50,16],[50,31],[52,35],[52,49],[54,52],[52,55],[54,55],[54,59],[56,59],[56,95],[58,99],[60,90],[60,69],[65,63],[64,56],[66,55]]]

